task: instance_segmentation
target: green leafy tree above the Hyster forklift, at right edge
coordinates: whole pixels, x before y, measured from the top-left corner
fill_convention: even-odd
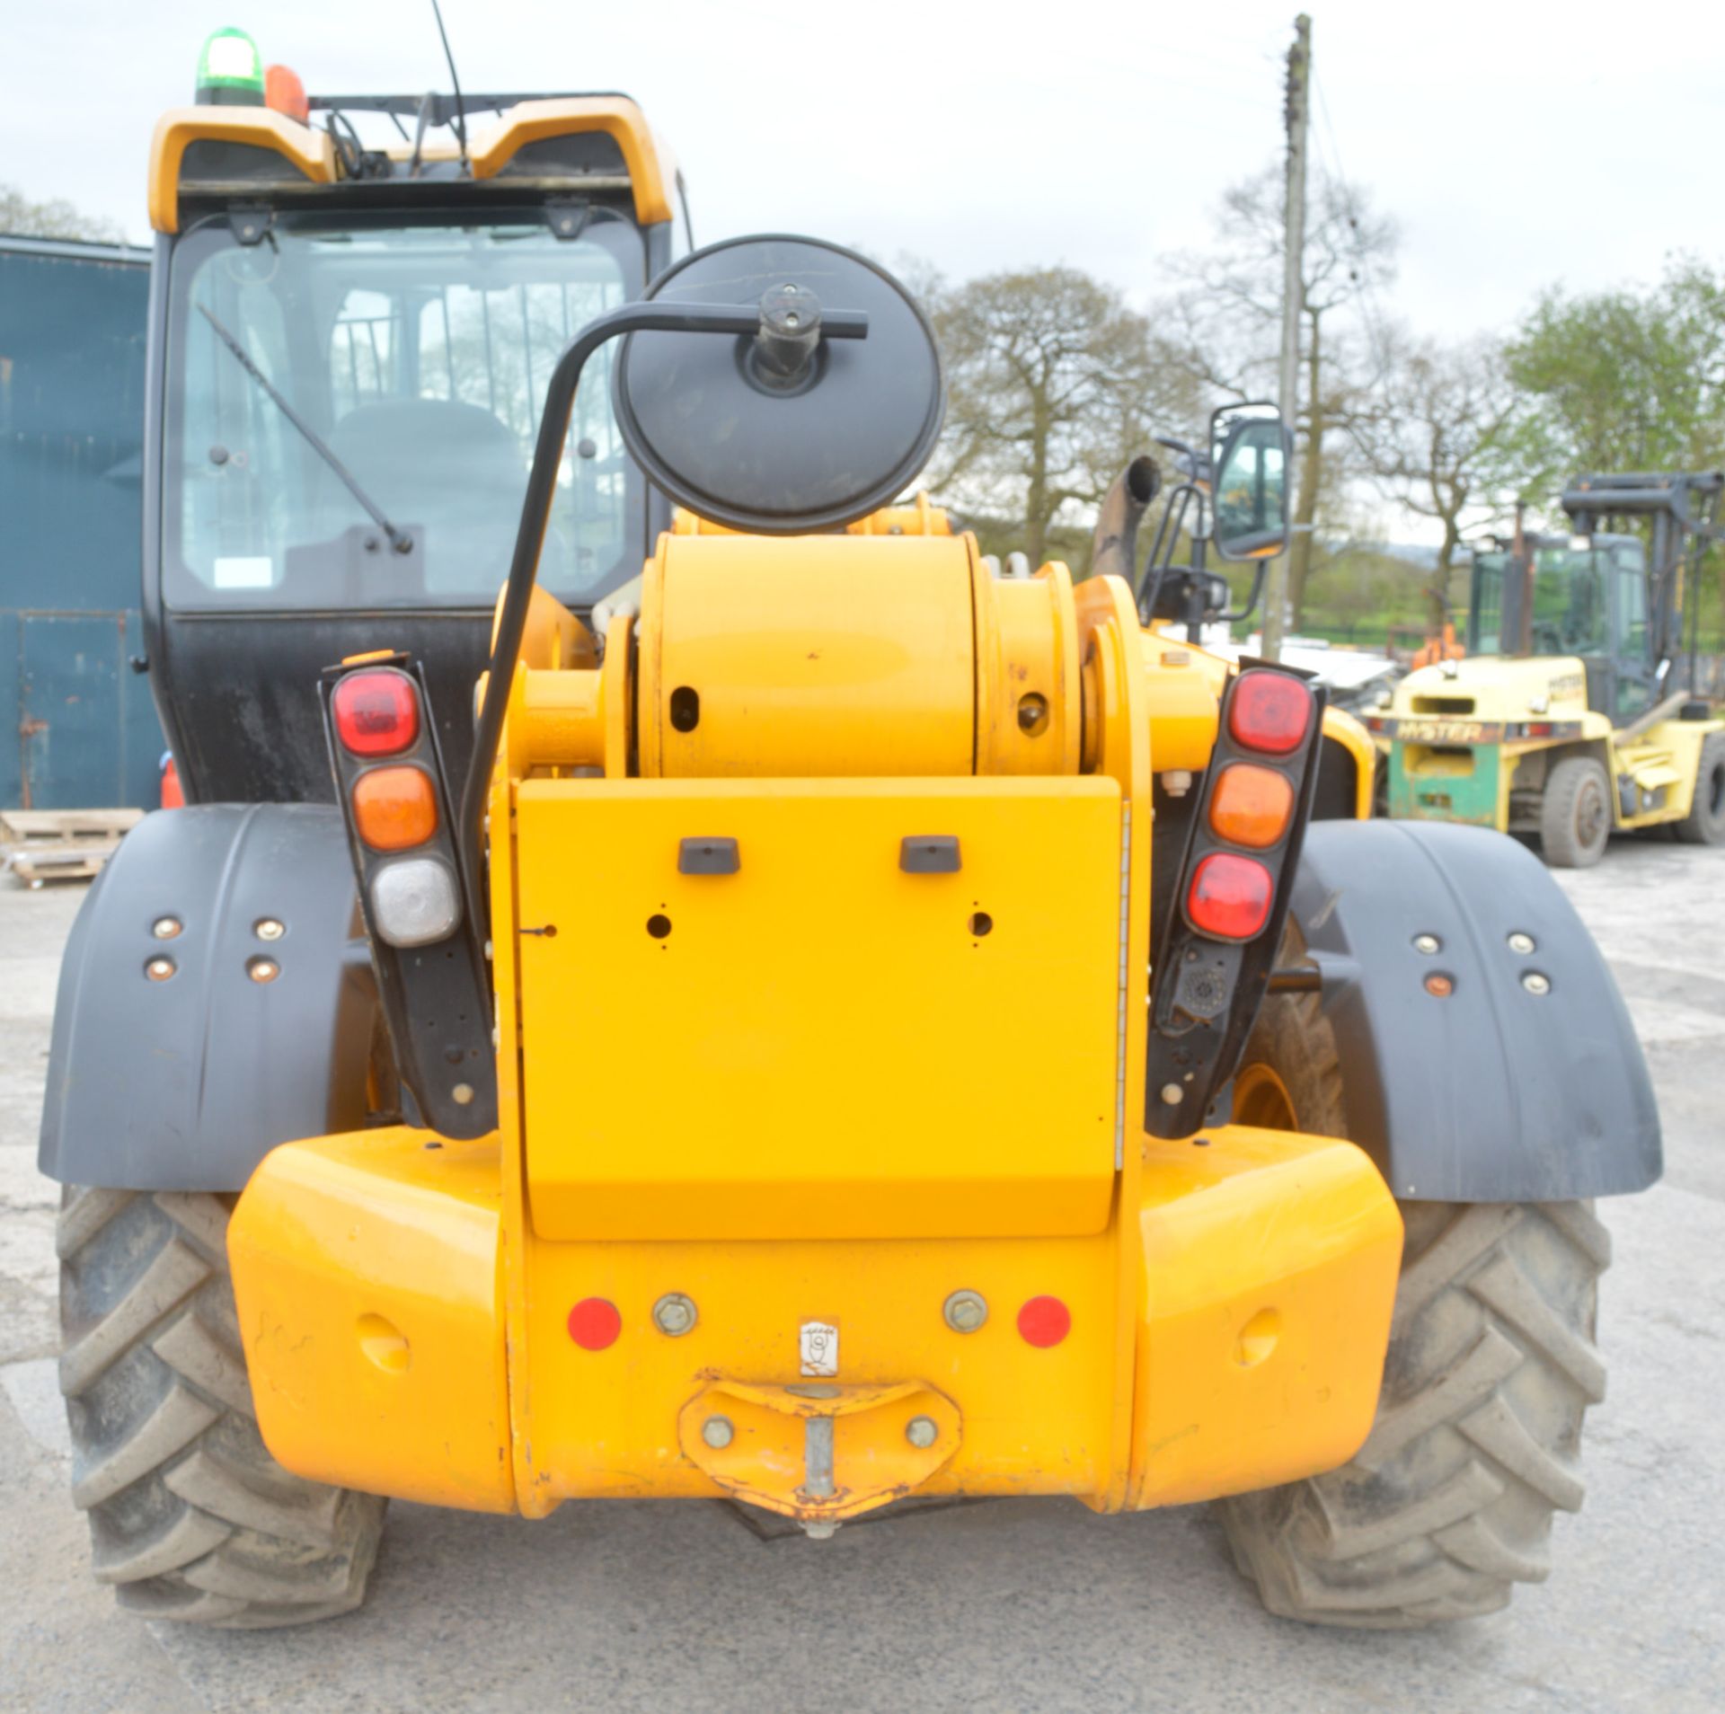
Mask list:
[[[1680,257],[1649,291],[1544,293],[1508,347],[1521,493],[1584,471],[1725,462],[1725,274]]]

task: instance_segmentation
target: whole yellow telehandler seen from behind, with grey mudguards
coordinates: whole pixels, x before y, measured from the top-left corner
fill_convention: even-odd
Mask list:
[[[1368,767],[1313,817],[1368,743],[1140,626],[1142,469],[1082,583],[892,505],[942,376],[881,269],[673,260],[633,103],[486,105],[419,171],[157,133],[193,802],[79,914],[41,1133],[97,1576],[290,1624],[361,1602],[392,1495],[819,1538],[1064,1493],[1220,1498],[1313,1621],[1542,1578],[1592,1198],[1659,1171],[1561,891],[1358,819]],[[1285,431],[1214,429],[1214,547],[1263,552]]]

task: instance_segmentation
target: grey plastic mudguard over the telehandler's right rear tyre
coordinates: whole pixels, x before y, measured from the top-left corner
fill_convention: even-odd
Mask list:
[[[1323,971],[1349,1135],[1397,1197],[1559,1202],[1659,1176],[1653,1081],[1611,971],[1508,835],[1313,823],[1292,917]],[[1521,935],[1532,952],[1511,947]]]

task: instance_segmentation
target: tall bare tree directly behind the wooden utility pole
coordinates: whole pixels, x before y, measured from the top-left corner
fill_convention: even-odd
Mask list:
[[[1168,264],[1180,283],[1159,331],[1187,378],[1223,398],[1275,397],[1282,331],[1282,167],[1266,167],[1221,200],[1216,243]],[[1306,219],[1301,303],[1299,478],[1289,605],[1301,621],[1314,564],[1314,524],[1346,474],[1347,433],[1370,409],[1383,369],[1373,293],[1396,276],[1396,222],[1352,186],[1321,176]]]

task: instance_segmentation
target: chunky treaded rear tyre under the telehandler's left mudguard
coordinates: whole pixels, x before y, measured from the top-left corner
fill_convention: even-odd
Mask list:
[[[252,1411],[231,1198],[67,1186],[60,1392],[97,1580],[147,1619],[304,1624],[364,1600],[385,1500],[288,1474]]]

